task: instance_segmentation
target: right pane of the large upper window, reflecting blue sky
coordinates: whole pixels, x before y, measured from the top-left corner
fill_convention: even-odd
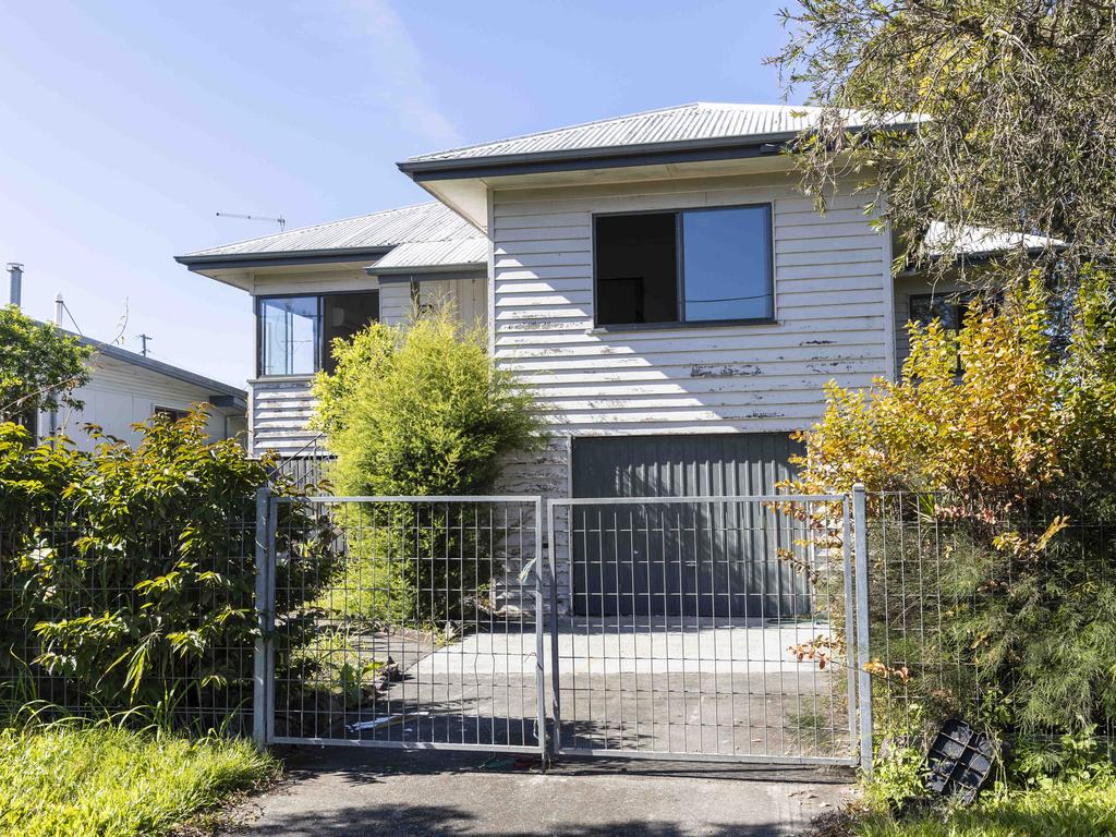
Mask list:
[[[771,319],[768,206],[682,213],[685,319]]]

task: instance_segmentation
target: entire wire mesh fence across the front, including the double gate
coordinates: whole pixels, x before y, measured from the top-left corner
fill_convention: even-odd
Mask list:
[[[868,493],[854,577],[855,504],[283,497],[262,528],[238,502],[200,532],[39,504],[0,518],[0,699],[243,733],[259,710],[280,742],[758,761],[850,762],[956,714],[1113,735],[1110,510]]]

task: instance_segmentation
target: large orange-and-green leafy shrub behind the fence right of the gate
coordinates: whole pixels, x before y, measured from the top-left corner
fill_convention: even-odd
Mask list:
[[[1116,292],[1086,271],[1065,347],[1054,301],[1032,279],[956,336],[912,325],[901,379],[830,385],[802,434],[797,490],[906,492],[869,494],[884,722],[893,689],[1012,735],[1116,722]]]

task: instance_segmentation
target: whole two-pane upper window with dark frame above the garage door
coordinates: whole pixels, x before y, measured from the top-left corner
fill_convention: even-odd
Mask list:
[[[594,218],[597,325],[775,317],[771,206]]]

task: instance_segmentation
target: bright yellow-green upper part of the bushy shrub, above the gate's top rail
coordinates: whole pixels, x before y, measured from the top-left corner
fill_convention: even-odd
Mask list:
[[[315,426],[337,454],[343,493],[481,494],[508,454],[541,443],[530,392],[484,340],[440,307],[334,341],[336,371],[315,382]]]

